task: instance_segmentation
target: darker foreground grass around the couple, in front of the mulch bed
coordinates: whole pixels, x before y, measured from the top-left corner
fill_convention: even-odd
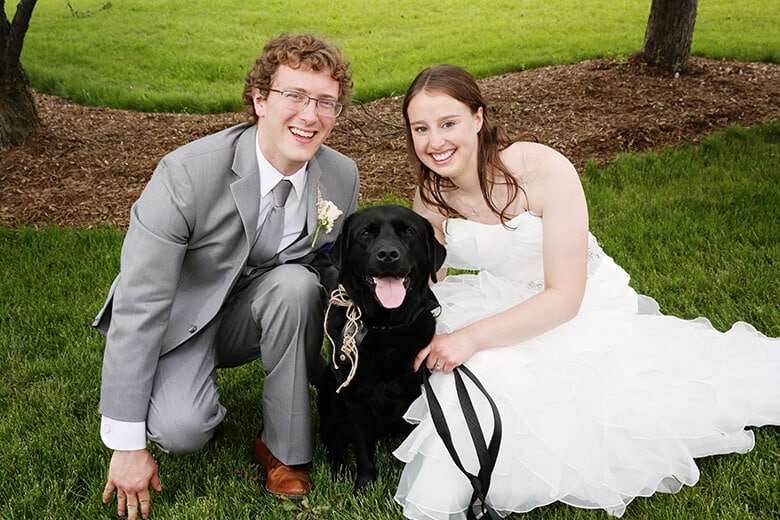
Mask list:
[[[583,183],[606,252],[662,310],[707,316],[725,330],[745,320],[780,336],[780,121],[733,128],[701,146],[589,165]],[[104,340],[89,324],[119,264],[122,229],[0,227],[0,517],[113,518],[100,494],[110,457],[97,410]],[[360,499],[318,447],[314,490],[279,505],[260,492],[250,460],[262,418],[258,363],[219,373],[228,415],[213,442],[184,457],[155,451],[164,489],[153,518],[387,519],[401,464],[385,442],[381,478]],[[780,428],[757,431],[747,455],[701,461],[701,481],[639,498],[629,519],[767,519],[780,514]],[[518,518],[595,519],[563,505]]]

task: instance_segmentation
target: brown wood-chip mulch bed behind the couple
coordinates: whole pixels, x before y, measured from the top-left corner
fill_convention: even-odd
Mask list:
[[[627,60],[544,67],[479,81],[510,135],[534,135],[568,156],[613,161],[780,117],[780,65],[691,58],[679,77]],[[244,120],[243,114],[150,114],[35,94],[44,128],[0,153],[0,223],[127,224],[163,155]],[[401,98],[353,105],[327,144],[352,157],[361,197],[409,197]]]

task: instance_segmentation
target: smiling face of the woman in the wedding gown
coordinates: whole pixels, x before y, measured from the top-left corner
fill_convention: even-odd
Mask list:
[[[450,179],[476,174],[481,108],[474,113],[453,97],[423,90],[407,113],[414,151],[425,166]]]

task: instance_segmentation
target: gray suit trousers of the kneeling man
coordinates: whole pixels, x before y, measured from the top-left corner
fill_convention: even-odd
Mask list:
[[[318,275],[299,264],[241,280],[207,327],[160,358],[148,438],[173,453],[203,447],[225,416],[216,369],[259,358],[266,373],[263,442],[285,464],[310,462],[308,377],[320,363],[324,298]]]

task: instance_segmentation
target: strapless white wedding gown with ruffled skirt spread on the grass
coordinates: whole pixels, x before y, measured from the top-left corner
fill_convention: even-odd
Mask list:
[[[447,264],[479,272],[433,287],[439,333],[542,290],[541,219],[523,213],[509,225],[450,219],[445,226]],[[721,333],[704,318],[660,314],[592,236],[579,315],[466,365],[500,409],[503,440],[488,501],[505,514],[561,501],[621,516],[634,497],[695,484],[694,458],[749,451],[746,426],[780,424],[780,341],[743,322]],[[476,472],[452,375],[435,372],[430,381],[461,459]],[[472,396],[489,438],[492,415],[481,394]],[[396,501],[409,518],[465,518],[471,487],[424,397],[406,419],[419,424],[394,452],[406,463]]]

